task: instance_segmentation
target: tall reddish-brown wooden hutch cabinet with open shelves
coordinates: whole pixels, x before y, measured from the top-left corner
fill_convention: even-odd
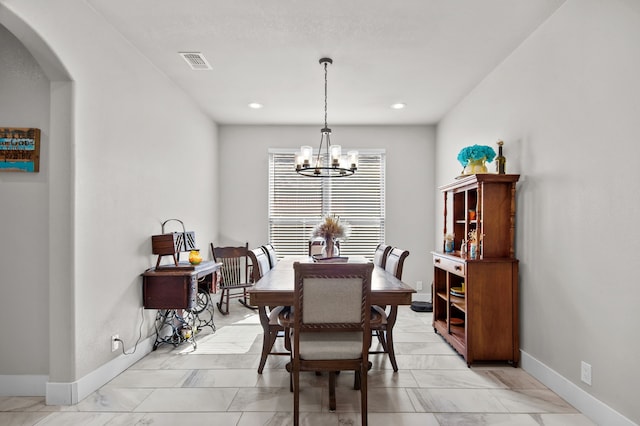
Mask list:
[[[467,365],[520,360],[518,260],[514,256],[515,193],[520,175],[475,174],[439,189],[444,234],[454,250],[433,252],[433,328]],[[475,230],[475,257],[461,251]]]

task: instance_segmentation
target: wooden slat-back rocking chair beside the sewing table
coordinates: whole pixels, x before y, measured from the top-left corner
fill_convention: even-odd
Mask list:
[[[253,286],[249,259],[249,243],[239,247],[214,247],[211,243],[213,260],[221,262],[219,270],[218,286],[220,288],[220,301],[216,303],[218,310],[223,315],[229,314],[229,299],[238,298],[239,302],[247,308],[249,305],[247,288]]]

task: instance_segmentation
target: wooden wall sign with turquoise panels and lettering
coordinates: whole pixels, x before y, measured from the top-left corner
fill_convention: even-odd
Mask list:
[[[0,127],[0,172],[40,171],[40,129]]]

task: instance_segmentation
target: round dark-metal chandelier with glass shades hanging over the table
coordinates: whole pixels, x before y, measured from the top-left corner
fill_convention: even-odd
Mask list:
[[[315,157],[313,148],[307,145],[300,147],[296,154],[296,172],[303,176],[344,177],[351,176],[358,169],[358,151],[343,155],[340,145],[331,145],[331,129],[327,126],[327,65],[332,63],[331,58],[320,59],[320,65],[324,65],[324,127],[320,129],[320,147]]]

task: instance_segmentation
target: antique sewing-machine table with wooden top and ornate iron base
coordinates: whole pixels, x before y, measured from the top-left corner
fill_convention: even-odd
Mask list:
[[[153,350],[162,343],[177,346],[183,342],[191,343],[195,349],[199,330],[211,327],[215,331],[209,294],[215,291],[214,277],[220,265],[213,261],[199,265],[178,263],[157,266],[142,274],[144,308],[158,309]],[[169,333],[163,334],[167,327]]]

